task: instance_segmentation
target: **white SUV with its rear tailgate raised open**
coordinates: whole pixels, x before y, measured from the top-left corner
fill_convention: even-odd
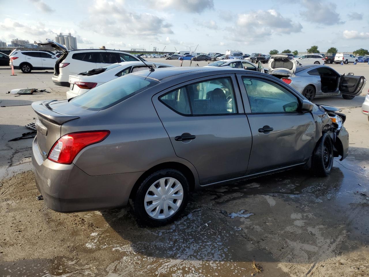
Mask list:
[[[53,41],[40,42],[38,45],[50,45],[63,51],[55,64],[52,81],[55,85],[69,87],[69,75],[77,75],[91,69],[101,68],[116,62],[142,61],[127,52],[110,49],[68,50],[65,46]]]

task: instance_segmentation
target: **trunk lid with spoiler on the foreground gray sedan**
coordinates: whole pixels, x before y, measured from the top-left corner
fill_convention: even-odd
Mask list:
[[[36,101],[32,103],[32,109],[37,114],[37,145],[43,160],[46,160],[51,147],[61,137],[64,123],[97,113],[76,107],[68,100]]]

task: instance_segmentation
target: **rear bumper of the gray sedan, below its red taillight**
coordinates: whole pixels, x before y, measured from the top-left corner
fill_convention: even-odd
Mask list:
[[[78,212],[125,206],[142,172],[90,176],[74,164],[42,159],[37,136],[32,145],[35,182],[48,208]]]

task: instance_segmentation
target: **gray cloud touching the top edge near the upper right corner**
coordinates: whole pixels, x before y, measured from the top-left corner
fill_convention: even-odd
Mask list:
[[[332,2],[321,0],[302,0],[303,10],[300,11],[301,17],[306,21],[324,25],[342,24],[339,14],[336,11],[337,5]]]

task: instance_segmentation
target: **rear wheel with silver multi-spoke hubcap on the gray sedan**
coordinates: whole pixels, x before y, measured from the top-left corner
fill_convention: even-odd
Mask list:
[[[141,183],[132,199],[137,221],[155,227],[173,222],[186,208],[188,193],[187,178],[180,171],[156,171]]]

